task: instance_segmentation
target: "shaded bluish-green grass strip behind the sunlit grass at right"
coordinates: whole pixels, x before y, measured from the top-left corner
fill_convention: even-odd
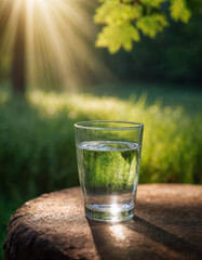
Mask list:
[[[95,95],[116,96],[123,100],[145,95],[146,105],[158,103],[161,107],[183,107],[189,114],[202,114],[202,91],[196,87],[165,83],[125,83],[125,84],[103,84],[91,88],[89,92]]]

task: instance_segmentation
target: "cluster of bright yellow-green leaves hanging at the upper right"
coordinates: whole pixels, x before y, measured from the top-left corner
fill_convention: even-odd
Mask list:
[[[116,53],[122,47],[133,48],[133,41],[140,40],[140,32],[154,38],[169,26],[170,17],[175,22],[188,23],[191,14],[201,12],[198,0],[99,0],[94,21],[103,24],[96,46]]]

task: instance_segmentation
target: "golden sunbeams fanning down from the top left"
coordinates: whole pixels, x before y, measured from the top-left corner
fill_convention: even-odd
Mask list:
[[[76,87],[80,73],[105,70],[92,52],[91,0],[1,0],[0,15],[10,2],[12,8],[4,48],[12,51],[16,24],[22,9],[26,24],[28,81],[33,87],[57,79],[63,87]],[[93,41],[92,41],[93,42]]]

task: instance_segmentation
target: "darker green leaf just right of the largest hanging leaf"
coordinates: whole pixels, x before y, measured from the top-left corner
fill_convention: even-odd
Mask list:
[[[156,35],[159,31],[162,31],[163,28],[167,25],[169,23],[165,15],[163,14],[151,14],[143,16],[136,23],[137,28],[140,29],[144,35],[151,38],[156,37]]]

